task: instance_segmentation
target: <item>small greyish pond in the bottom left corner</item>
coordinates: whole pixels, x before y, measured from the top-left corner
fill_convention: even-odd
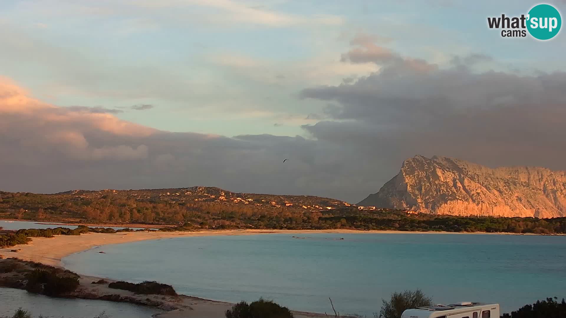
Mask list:
[[[151,318],[151,315],[162,312],[127,303],[51,298],[29,294],[25,290],[0,287],[0,317],[12,317],[19,307],[29,311],[33,318],[39,315],[45,318],[92,318],[103,311],[112,318]]]

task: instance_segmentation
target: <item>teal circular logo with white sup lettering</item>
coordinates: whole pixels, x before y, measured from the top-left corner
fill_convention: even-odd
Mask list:
[[[529,11],[527,29],[534,38],[550,40],[560,32],[560,12],[551,5],[537,5]]]

